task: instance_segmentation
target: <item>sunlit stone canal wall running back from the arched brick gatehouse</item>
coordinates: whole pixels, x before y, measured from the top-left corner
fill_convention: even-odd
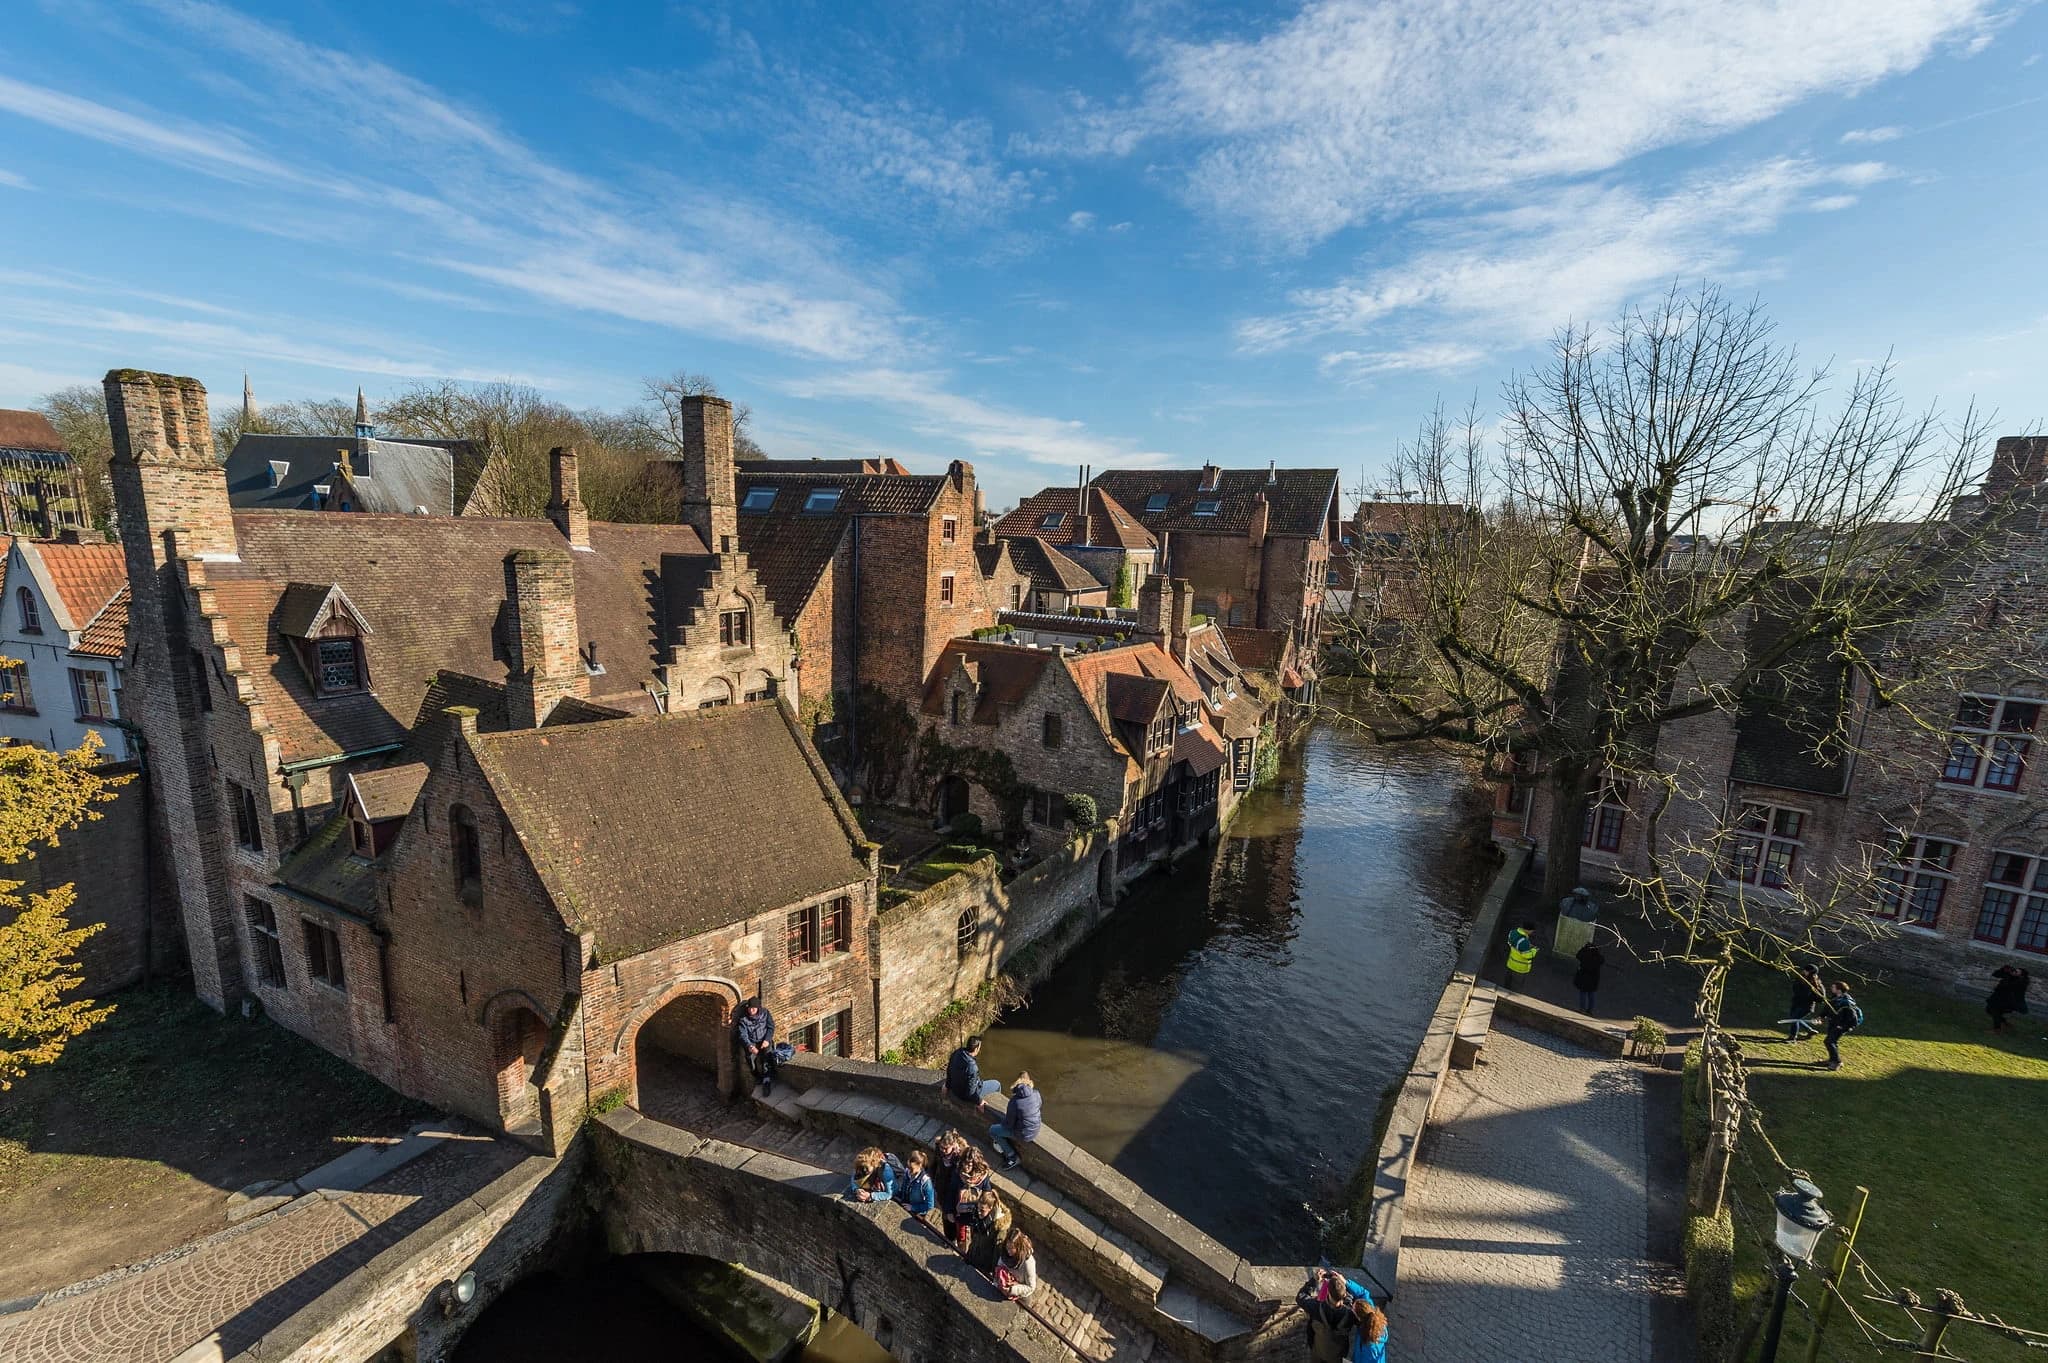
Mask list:
[[[1018,952],[1047,939],[1067,915],[1096,917],[1102,858],[1112,839],[1081,833],[1010,884],[995,858],[879,915],[881,1050],[893,1048],[954,999],[971,997]],[[973,939],[961,948],[963,919]]]

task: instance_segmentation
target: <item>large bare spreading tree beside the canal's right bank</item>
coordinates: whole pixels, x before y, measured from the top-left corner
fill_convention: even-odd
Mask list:
[[[1384,551],[1391,585],[1339,649],[1380,741],[1534,774],[1546,898],[1579,880],[1589,804],[1704,798],[1659,763],[1673,724],[1833,686],[1841,704],[1800,735],[1827,751],[1860,704],[1952,702],[1939,641],[1911,624],[1966,589],[1989,534],[1948,520],[1982,467],[1976,413],[1905,411],[1886,366],[1831,397],[1757,305],[1714,289],[1563,329],[1503,399],[1497,436],[1436,411],[1401,448],[1403,493],[1477,514]]]

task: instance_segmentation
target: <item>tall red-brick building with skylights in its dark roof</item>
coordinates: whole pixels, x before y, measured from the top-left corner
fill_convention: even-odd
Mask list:
[[[686,448],[686,469],[694,458]],[[729,487],[735,471],[705,477]],[[915,706],[948,639],[1022,604],[1030,579],[1004,546],[975,542],[979,516],[961,460],[934,475],[737,467],[739,544],[795,630],[799,714],[844,714],[860,686]]]

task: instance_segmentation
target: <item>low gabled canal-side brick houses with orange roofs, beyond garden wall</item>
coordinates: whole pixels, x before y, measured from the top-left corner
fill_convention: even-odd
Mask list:
[[[1090,796],[1098,819],[1116,821],[1122,870],[1206,837],[1227,817],[1227,745],[1260,727],[1221,634],[1190,624],[1188,583],[1149,577],[1139,598],[1126,641],[954,639],[922,704],[948,747],[1010,757],[1034,843],[1065,839],[1065,796]],[[936,812],[975,812],[991,829],[1006,823],[965,776],[940,784]]]

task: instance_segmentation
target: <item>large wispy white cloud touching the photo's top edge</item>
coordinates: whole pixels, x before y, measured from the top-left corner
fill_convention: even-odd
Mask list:
[[[1159,41],[1128,104],[1020,151],[1186,145],[1184,192],[1282,244],[1610,170],[1970,51],[1997,0],[1311,0],[1255,39]]]

